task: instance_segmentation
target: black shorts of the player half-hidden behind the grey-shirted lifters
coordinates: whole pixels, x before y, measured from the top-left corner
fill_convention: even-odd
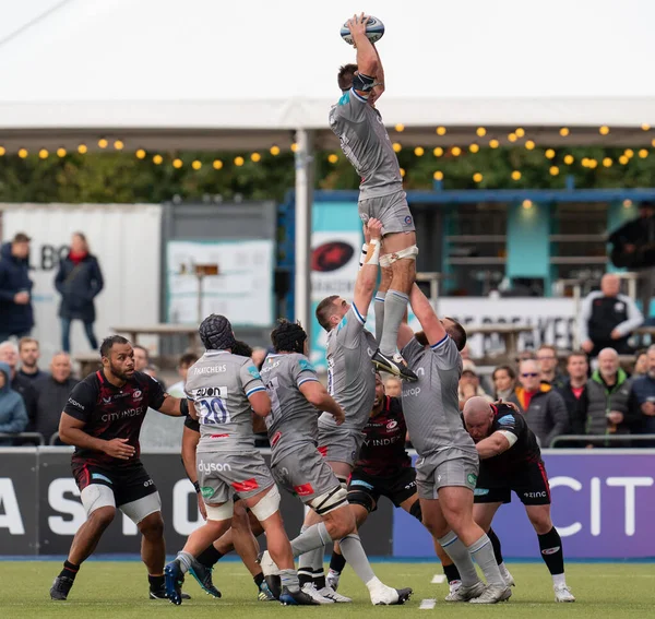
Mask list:
[[[378,509],[380,497],[386,497],[396,508],[416,495],[416,472],[401,468],[393,477],[373,477],[356,468],[348,480],[348,502],[361,505],[371,513]]]

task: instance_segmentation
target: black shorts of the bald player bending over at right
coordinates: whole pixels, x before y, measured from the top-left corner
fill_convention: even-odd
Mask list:
[[[512,490],[524,505],[549,505],[550,486],[543,462],[526,462],[520,471],[491,476],[480,461],[480,474],[475,488],[476,503],[510,503]],[[502,481],[499,484],[499,481]]]

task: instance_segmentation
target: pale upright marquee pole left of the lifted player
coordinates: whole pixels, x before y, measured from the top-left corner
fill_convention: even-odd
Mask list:
[[[311,342],[311,211],[314,180],[314,134],[296,131],[296,281],[295,313]]]

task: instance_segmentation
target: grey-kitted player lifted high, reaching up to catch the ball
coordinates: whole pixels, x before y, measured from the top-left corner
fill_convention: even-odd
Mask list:
[[[374,104],[384,92],[384,70],[380,56],[366,36],[368,17],[354,15],[348,28],[357,48],[357,64],[338,71],[343,96],[330,111],[330,127],[361,177],[359,216],[382,222],[380,265],[390,266],[389,289],[382,284],[376,295],[376,340],[373,364],[384,371],[415,381],[416,374],[397,352],[396,340],[412,285],[416,276],[416,233],[414,218],[403,191],[398,159]]]

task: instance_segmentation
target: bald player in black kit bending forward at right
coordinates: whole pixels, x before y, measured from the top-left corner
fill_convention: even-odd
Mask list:
[[[488,531],[498,508],[512,500],[512,490],[516,492],[552,575],[555,600],[575,602],[564,578],[562,540],[550,519],[550,487],[534,432],[521,413],[507,404],[489,404],[484,397],[466,402],[464,421],[480,457],[476,522]]]

